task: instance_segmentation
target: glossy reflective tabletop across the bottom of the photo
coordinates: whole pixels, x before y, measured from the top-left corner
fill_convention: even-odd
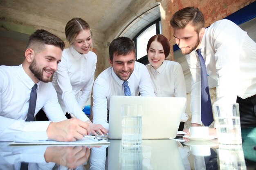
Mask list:
[[[9,146],[0,142],[0,170],[20,170],[21,162],[29,162],[29,170],[254,170],[255,141],[246,138],[243,146],[227,146],[214,140],[151,139],[134,148],[122,146],[121,140],[102,146]]]

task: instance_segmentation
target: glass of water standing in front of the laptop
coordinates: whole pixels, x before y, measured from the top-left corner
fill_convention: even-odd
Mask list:
[[[122,145],[141,146],[142,140],[142,105],[124,104],[122,115]]]

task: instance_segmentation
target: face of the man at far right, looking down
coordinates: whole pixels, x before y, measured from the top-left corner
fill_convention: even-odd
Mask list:
[[[188,24],[184,29],[173,29],[173,36],[176,44],[180,47],[182,54],[189,54],[198,48],[204,35],[204,28],[199,33],[195,28]]]

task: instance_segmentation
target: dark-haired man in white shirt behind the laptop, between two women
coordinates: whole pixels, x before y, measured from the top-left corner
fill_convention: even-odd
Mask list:
[[[132,96],[155,96],[150,75],[144,64],[136,62],[135,45],[129,38],[119,37],[109,46],[110,67],[95,80],[93,86],[93,123],[108,130],[108,109],[112,95],[125,95],[123,83],[128,82]]]

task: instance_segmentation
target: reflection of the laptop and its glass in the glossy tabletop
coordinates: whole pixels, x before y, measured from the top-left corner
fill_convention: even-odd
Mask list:
[[[137,160],[134,158],[136,157]],[[142,145],[132,151],[122,147],[121,140],[110,140],[108,170],[184,170],[177,141],[142,140]]]

